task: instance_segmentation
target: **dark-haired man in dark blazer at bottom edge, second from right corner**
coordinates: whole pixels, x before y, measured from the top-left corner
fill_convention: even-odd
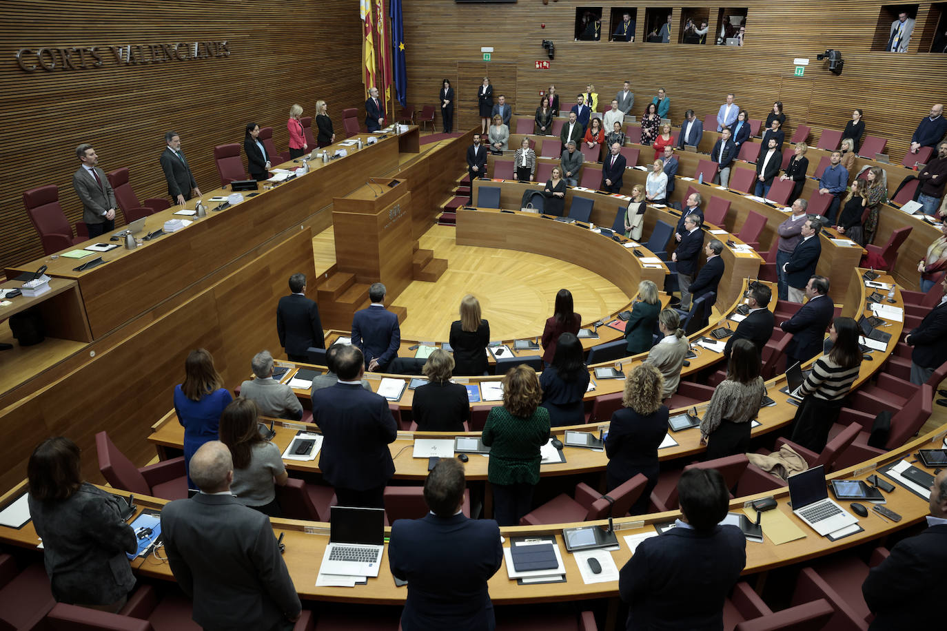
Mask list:
[[[721,526],[730,496],[716,469],[685,469],[677,482],[682,516],[642,541],[618,573],[628,631],[724,628],[724,600],[746,565],[746,538]]]

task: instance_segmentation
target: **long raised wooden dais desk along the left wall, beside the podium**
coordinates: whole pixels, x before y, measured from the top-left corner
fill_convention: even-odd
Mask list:
[[[219,270],[241,254],[252,251],[291,226],[299,225],[320,208],[331,204],[334,197],[365,184],[366,173],[384,173],[397,167],[402,137],[417,136],[418,133],[417,126],[409,128],[402,136],[392,132],[387,138],[365,145],[363,149],[342,147],[337,143],[327,150],[331,153],[335,149],[346,149],[348,156],[328,163],[312,160],[310,168],[313,173],[318,172],[318,176],[310,173],[270,188],[267,188],[269,183],[260,183],[259,191],[243,192],[243,202],[219,212],[211,209],[221,202],[210,202],[210,199],[225,198],[231,192],[229,186],[208,190],[200,198],[208,209],[205,219],[175,216],[179,211],[193,210],[198,202],[195,198],[146,218],[144,232],[138,237],[160,230],[168,219],[193,221],[178,231],[179,234],[144,241],[134,250],[126,250],[122,242],[116,241],[114,243],[119,246],[116,250],[81,259],[60,256],[52,260],[45,256],[8,269],[7,277],[35,272],[46,265],[48,275],[77,281],[92,337],[98,339],[207,273]],[[373,135],[363,133],[358,137],[366,141]],[[299,166],[296,162],[277,167],[296,168]],[[110,236],[90,239],[70,250],[100,241],[108,242]],[[103,264],[86,271],[75,270],[97,256],[101,256]],[[121,263],[114,264],[118,260]]]

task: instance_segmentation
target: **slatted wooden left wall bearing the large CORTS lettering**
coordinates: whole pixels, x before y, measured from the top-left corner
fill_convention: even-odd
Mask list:
[[[272,126],[282,151],[293,103],[314,116],[316,100],[326,100],[336,131],[344,108],[357,107],[364,118],[361,22],[351,0],[116,0],[91,12],[75,0],[10,0],[0,37],[0,115],[8,130],[0,149],[7,165],[0,189],[4,267],[43,254],[23,191],[58,184],[66,216],[81,219],[71,181],[82,142],[94,145],[105,171],[129,167],[135,193],[144,199],[167,195],[158,166],[165,131],[181,134],[198,185],[210,190],[219,183],[213,147],[242,143],[248,122]],[[100,68],[32,73],[15,60],[24,47],[223,40],[230,54],[219,59],[119,66],[106,50]]]

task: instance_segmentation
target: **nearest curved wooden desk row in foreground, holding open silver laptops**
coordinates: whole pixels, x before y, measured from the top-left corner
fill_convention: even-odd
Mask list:
[[[892,450],[878,461],[868,462],[844,471],[838,471],[832,474],[831,478],[865,480],[867,476],[873,473],[879,466],[897,462],[902,458],[910,458],[910,454],[918,448],[940,447],[945,433],[947,433],[947,429],[932,431],[900,449]],[[471,468],[471,464],[473,464],[473,461],[467,464],[468,469]],[[918,466],[920,466],[920,464],[918,464]],[[9,491],[3,498],[0,498],[0,506],[6,506],[9,501],[19,498],[21,494],[25,492],[25,487],[26,481],[21,482],[17,487]],[[105,490],[111,489],[106,488]],[[767,495],[769,494],[759,494],[758,496],[748,496],[733,500],[730,502],[731,510],[740,511],[744,507],[744,502],[759,497],[766,497]],[[777,492],[775,497],[778,503],[776,510],[791,519],[805,536],[788,543],[776,545],[772,539],[766,535],[766,526],[764,525],[764,541],[762,543],[747,542],[746,544],[746,567],[743,570],[743,574],[772,570],[802,563],[833,552],[840,552],[918,523],[929,513],[927,500],[921,499],[900,485],[896,485],[896,490],[886,495],[885,499],[887,500],[887,506],[891,510],[902,515],[903,518],[900,522],[892,523],[873,515],[862,517],[859,519],[859,525],[863,529],[862,532],[831,542],[826,537],[816,535],[808,526],[796,520],[788,503],[788,490]],[[137,500],[138,505],[143,509],[160,510],[166,503],[165,500],[141,496],[136,497],[135,500]],[[848,510],[848,508],[845,507],[845,502],[842,502],[842,504],[844,509]],[[626,535],[652,534],[655,524],[673,521],[673,519],[678,516],[679,512],[670,511],[647,516],[622,517],[616,519],[616,535],[619,549],[616,552],[612,552],[612,555],[617,567],[621,568],[632,556],[631,549],[624,539]],[[369,579],[366,586],[314,587],[315,577],[322,561],[323,552],[329,542],[329,524],[277,518],[271,521],[273,523],[275,536],[285,534],[283,543],[286,544],[286,553],[283,558],[286,561],[287,568],[290,571],[290,575],[293,578],[300,598],[306,600],[326,600],[370,605],[401,605],[404,602],[406,591],[395,587],[390,570],[388,570],[386,559],[382,562],[378,578]],[[590,523],[604,524],[605,522],[503,528],[501,532],[507,538],[522,535],[555,535],[560,551],[563,553],[566,582],[520,586],[517,585],[514,580],[508,578],[506,567],[501,567],[490,580],[489,587],[492,601],[497,604],[512,605],[518,603],[616,597],[618,587],[616,581],[585,585],[581,580],[575,557],[565,551],[562,537],[563,527],[589,525]],[[39,539],[33,529],[32,522],[29,522],[19,530],[0,527],[0,541],[25,548],[35,548]],[[505,542],[504,546],[509,546],[509,542]],[[156,559],[153,554],[146,558],[135,559],[132,566],[135,572],[143,576],[169,581],[173,580],[167,562]]]

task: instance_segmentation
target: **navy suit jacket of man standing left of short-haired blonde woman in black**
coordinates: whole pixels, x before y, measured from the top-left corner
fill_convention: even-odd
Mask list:
[[[360,383],[336,383],[312,400],[313,423],[325,437],[319,468],[326,482],[355,491],[384,486],[395,474],[388,444],[398,435],[384,396]]]

